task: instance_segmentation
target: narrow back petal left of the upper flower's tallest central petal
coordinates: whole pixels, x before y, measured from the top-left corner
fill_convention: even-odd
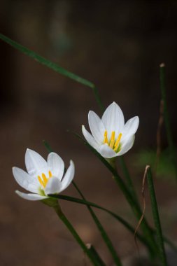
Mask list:
[[[104,140],[104,124],[102,123],[99,116],[97,116],[97,113],[94,113],[94,111],[89,112],[88,122],[90,126],[90,131],[92,132],[95,141],[97,141],[98,144],[101,144]]]

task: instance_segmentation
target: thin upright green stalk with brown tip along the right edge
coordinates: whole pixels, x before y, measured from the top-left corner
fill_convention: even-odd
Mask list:
[[[176,179],[177,179],[177,162],[176,162],[176,156],[175,156],[175,147],[174,147],[174,141],[172,137],[171,132],[171,124],[169,120],[169,112],[167,107],[167,90],[166,90],[166,82],[165,82],[165,64],[160,64],[160,89],[161,89],[161,95],[162,95],[162,101],[164,103],[164,125],[167,132],[167,140],[169,144],[169,150],[171,153],[171,161],[174,164],[174,169],[176,172]]]

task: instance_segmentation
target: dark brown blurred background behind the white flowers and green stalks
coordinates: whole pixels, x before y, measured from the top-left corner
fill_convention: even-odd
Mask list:
[[[167,65],[167,99],[174,141],[177,136],[177,2],[1,0],[0,3],[2,34],[91,80],[99,88],[104,105],[117,102],[125,120],[139,116],[134,148],[125,155],[125,160],[141,197],[143,169],[150,162],[137,166],[136,158],[141,158],[142,150],[156,149],[161,62]],[[94,94],[90,88],[60,76],[2,41],[0,56],[0,264],[90,265],[52,209],[15,195],[19,186],[11,167],[24,168],[27,147],[47,157],[42,143],[45,139],[64,158],[66,167],[71,158],[75,162],[75,181],[88,200],[116,211],[136,226],[111,174],[71,133],[80,133],[80,125],[87,125],[89,110],[101,115]],[[162,147],[167,148],[164,130]],[[175,184],[171,174],[155,179],[162,227],[174,241]],[[64,194],[78,197],[73,186]],[[61,206],[84,241],[94,244],[107,265],[113,265],[87,209],[62,201]],[[149,205],[146,211],[151,221]],[[107,214],[101,211],[97,214],[126,263],[136,253],[132,235]]]

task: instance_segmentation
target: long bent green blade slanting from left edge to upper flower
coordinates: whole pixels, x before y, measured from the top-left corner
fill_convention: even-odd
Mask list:
[[[75,80],[76,82],[83,84],[87,87],[90,87],[92,91],[94,92],[94,97],[97,101],[97,104],[99,105],[99,108],[101,111],[104,110],[104,106],[101,103],[101,99],[99,97],[99,92],[97,87],[94,85],[94,83],[90,82],[89,80],[86,80],[85,78],[81,78],[80,76],[76,75],[75,73],[72,73],[63,67],[59,66],[58,64],[53,63],[52,61],[45,59],[41,55],[38,55],[36,52],[33,50],[29,50],[28,48],[24,47],[20,43],[17,43],[16,41],[13,41],[12,39],[8,38],[7,36],[0,34],[0,39],[2,41],[5,41],[9,45],[13,46],[13,48],[20,50],[20,52],[24,53],[25,55],[33,58],[40,64],[43,64],[47,66],[48,68],[54,70],[57,73],[60,73],[62,76],[66,76],[67,78],[71,78],[72,80]]]

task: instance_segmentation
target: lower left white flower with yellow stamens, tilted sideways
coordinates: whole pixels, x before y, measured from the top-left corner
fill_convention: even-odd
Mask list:
[[[15,191],[26,200],[44,200],[49,194],[58,194],[65,190],[73,180],[73,162],[70,161],[70,166],[64,174],[64,162],[57,153],[50,153],[46,162],[36,151],[27,148],[25,165],[27,172],[13,167],[13,176],[22,188],[31,192],[27,194]]]

